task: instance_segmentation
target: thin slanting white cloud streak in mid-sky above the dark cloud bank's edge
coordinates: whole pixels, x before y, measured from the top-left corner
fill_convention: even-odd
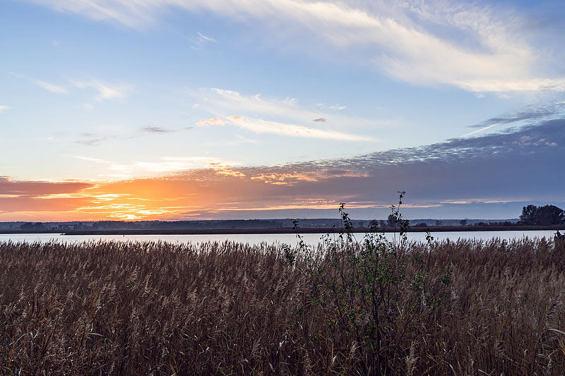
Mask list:
[[[261,119],[247,119],[240,116],[230,116],[228,120],[235,125],[255,133],[270,133],[303,138],[321,138],[338,141],[375,141],[374,138],[351,135],[343,132],[309,128],[294,124],[285,124],[278,121],[265,121]]]

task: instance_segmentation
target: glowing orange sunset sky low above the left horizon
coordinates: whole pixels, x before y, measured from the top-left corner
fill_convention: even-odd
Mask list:
[[[321,199],[289,190],[297,184],[312,186],[327,179],[296,171],[247,175],[218,166],[176,175],[107,182],[3,178],[0,187],[5,194],[0,195],[0,221],[213,219],[226,211],[336,209],[340,203],[337,198],[325,195]],[[351,202],[349,207],[374,205],[374,202]]]

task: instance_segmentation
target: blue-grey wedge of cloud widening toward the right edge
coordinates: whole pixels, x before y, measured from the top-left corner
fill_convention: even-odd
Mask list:
[[[386,203],[397,190],[406,190],[420,203],[565,201],[564,156],[565,119],[555,119],[350,159],[237,170],[289,183],[266,183],[266,196]]]

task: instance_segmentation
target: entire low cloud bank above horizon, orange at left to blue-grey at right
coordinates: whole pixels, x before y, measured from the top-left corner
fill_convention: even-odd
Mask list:
[[[563,147],[553,143],[565,145],[562,127],[548,122],[350,159],[275,166],[210,162],[203,169],[113,181],[0,176],[0,221],[331,218],[340,202],[352,218],[383,219],[398,202],[398,190],[407,192],[406,218],[517,218],[523,205],[563,202],[559,178],[547,180],[547,171],[561,168]],[[541,135],[554,142],[523,142]]]

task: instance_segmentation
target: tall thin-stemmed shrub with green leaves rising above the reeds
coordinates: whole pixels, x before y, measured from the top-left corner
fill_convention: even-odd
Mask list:
[[[400,234],[399,241],[388,241],[376,221],[362,243],[355,241],[353,226],[339,207],[341,229],[337,238],[324,237],[324,255],[318,259],[305,255],[307,275],[318,301],[326,308],[328,323],[350,342],[359,354],[355,358],[362,373],[383,374],[398,367],[398,357],[408,339],[406,335],[421,325],[441,303],[449,284],[449,270],[432,280],[422,255],[408,255],[408,220],[400,207],[405,192],[398,192],[398,205],[391,205],[391,216]],[[295,229],[297,226],[295,223]],[[299,234],[297,233],[297,236]],[[299,250],[308,247],[299,236]],[[431,255],[433,237],[427,235]]]

